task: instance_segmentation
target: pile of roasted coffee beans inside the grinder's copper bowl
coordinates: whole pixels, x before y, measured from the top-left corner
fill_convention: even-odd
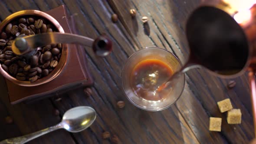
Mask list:
[[[58,65],[62,44],[43,46],[30,58],[16,56],[11,45],[16,37],[54,32],[56,28],[40,17],[26,16],[11,21],[0,33],[0,64],[10,75],[20,81],[34,82]],[[42,39],[43,40],[43,39]]]

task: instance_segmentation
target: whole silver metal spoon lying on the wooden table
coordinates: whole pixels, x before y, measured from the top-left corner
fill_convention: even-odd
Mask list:
[[[75,133],[83,131],[88,128],[96,118],[96,112],[93,108],[88,106],[79,106],[71,108],[62,117],[62,121],[55,126],[36,131],[32,134],[27,134],[21,137],[14,137],[6,139],[0,142],[0,144],[24,144],[28,141],[47,134],[51,131],[55,131],[60,128],[64,128],[69,132]]]

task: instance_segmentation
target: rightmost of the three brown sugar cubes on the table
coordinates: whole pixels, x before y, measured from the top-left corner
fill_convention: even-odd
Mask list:
[[[241,124],[242,113],[240,109],[232,109],[227,112],[227,123],[228,124]]]

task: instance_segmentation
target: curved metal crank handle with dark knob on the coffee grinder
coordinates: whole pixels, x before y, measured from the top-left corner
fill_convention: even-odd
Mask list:
[[[98,56],[107,56],[112,50],[112,41],[105,35],[98,36],[96,39],[91,39],[86,36],[58,32],[17,37],[12,44],[12,50],[17,56],[22,56],[32,52],[37,47],[57,43],[90,46]]]

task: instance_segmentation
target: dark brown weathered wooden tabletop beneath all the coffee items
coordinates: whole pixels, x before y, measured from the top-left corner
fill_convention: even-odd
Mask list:
[[[6,85],[0,77],[0,140],[29,134],[52,126],[61,120],[69,108],[88,105],[97,111],[98,117],[85,131],[71,134],[65,130],[54,131],[39,137],[30,144],[96,144],[111,143],[103,140],[103,131],[117,135],[120,143],[141,144],[248,144],[253,139],[253,119],[246,75],[233,79],[237,85],[226,88],[230,79],[210,75],[205,69],[190,70],[186,74],[186,86],[175,105],[160,112],[143,111],[133,106],[121,90],[121,69],[125,60],[136,50],[146,46],[158,46],[174,52],[184,63],[189,55],[184,23],[188,14],[200,0],[1,0],[0,20],[19,10],[47,11],[65,4],[70,14],[77,13],[77,26],[81,35],[95,38],[107,33],[114,49],[106,58],[96,57],[87,50],[89,69],[95,80],[92,96],[83,90],[66,94],[61,101],[44,99],[32,104],[10,105]],[[129,10],[134,8],[134,19]],[[118,14],[118,22],[111,22],[111,15]],[[141,22],[148,16],[148,25]],[[148,31],[149,30],[149,31]],[[72,76],[72,75],[70,75]],[[230,98],[234,108],[242,111],[242,124],[230,125],[226,114],[220,113],[217,101]],[[125,101],[119,109],[116,102]],[[60,116],[53,115],[53,109]],[[13,124],[4,118],[10,115]],[[223,118],[222,131],[208,131],[209,117]]]

